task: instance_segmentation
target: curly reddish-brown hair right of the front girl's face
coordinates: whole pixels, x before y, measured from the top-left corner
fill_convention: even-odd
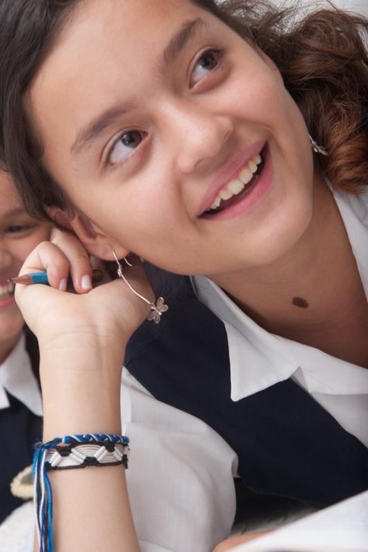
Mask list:
[[[213,0],[194,0],[213,11]],[[368,184],[368,19],[330,9],[298,20],[297,8],[226,0],[218,17],[278,66],[313,139],[329,152],[316,163],[333,188]]]

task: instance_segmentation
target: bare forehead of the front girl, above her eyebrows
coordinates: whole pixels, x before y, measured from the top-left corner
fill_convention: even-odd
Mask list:
[[[43,141],[50,142],[48,132],[58,128],[61,117],[64,129],[71,129],[123,97],[145,102],[168,42],[198,17],[217,21],[190,0],[79,3],[28,93],[31,119]],[[64,139],[54,133],[52,140],[58,147]]]

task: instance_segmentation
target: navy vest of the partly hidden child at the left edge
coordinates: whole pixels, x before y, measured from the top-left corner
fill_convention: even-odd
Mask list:
[[[32,369],[38,378],[39,356],[35,336],[26,331],[26,344]],[[0,523],[17,506],[21,498],[10,492],[10,482],[26,466],[32,464],[33,445],[41,441],[41,418],[33,414],[19,400],[8,394],[9,408],[0,410]]]

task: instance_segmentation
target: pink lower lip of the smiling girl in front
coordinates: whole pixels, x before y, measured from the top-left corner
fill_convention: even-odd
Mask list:
[[[249,213],[249,211],[258,204],[260,199],[267,194],[269,188],[271,188],[272,181],[273,164],[269,146],[267,146],[264,150],[264,166],[262,172],[251,191],[238,203],[229,206],[215,215],[202,215],[201,218],[213,221],[231,220]]]

